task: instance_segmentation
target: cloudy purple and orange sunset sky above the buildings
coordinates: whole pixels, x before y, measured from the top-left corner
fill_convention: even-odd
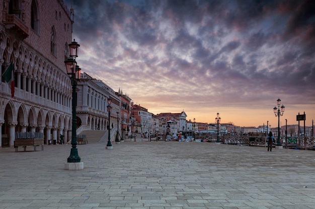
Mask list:
[[[64,2],[82,71],[148,112],[277,127],[280,98],[280,125],[315,119],[315,1]]]

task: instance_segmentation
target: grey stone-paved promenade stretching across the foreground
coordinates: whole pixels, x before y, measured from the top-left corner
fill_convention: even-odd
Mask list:
[[[64,170],[70,145],[0,149],[0,208],[315,208],[315,151],[207,142],[105,146],[78,145],[84,169],[77,171]]]

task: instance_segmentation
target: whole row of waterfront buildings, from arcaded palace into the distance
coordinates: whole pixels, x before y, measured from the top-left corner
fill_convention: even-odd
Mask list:
[[[69,57],[74,10],[62,0],[4,0],[0,3],[0,147],[12,147],[17,133],[41,133],[44,142],[71,138],[72,88],[64,61]],[[80,55],[77,58],[80,65]],[[14,86],[4,73],[13,66]],[[84,70],[84,69],[83,69]],[[109,99],[111,114],[107,111]],[[81,74],[76,88],[76,130],[106,130],[115,138],[195,131],[265,132],[267,127],[198,123],[184,111],[154,115],[133,104],[122,90]],[[295,130],[297,130],[295,128]]]

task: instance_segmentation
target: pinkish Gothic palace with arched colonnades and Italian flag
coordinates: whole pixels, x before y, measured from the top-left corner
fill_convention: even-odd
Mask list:
[[[71,138],[71,83],[65,72],[73,10],[62,0],[0,1],[1,75],[15,69],[15,95],[1,76],[0,147],[15,132],[41,132],[45,143]]]

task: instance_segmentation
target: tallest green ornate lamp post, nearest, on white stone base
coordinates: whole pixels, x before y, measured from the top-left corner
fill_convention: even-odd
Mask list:
[[[77,80],[80,79],[81,76],[81,68],[76,65],[75,58],[77,57],[78,47],[80,45],[73,40],[71,44],[68,45],[70,49],[70,57],[64,61],[67,74],[70,77],[71,85],[72,85],[72,137],[71,137],[71,151],[70,155],[67,159],[65,164],[65,169],[69,170],[78,170],[83,169],[83,162],[81,162],[81,158],[78,155],[77,148],[76,148],[76,85]],[[73,163],[73,164],[69,164]]]

